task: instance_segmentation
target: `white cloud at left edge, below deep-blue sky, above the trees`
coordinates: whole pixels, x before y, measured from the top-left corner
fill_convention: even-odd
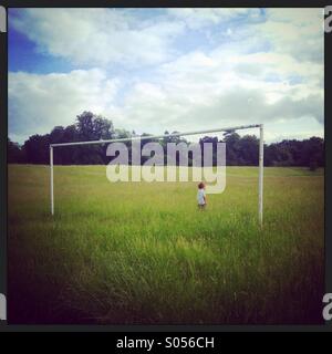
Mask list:
[[[68,74],[9,73],[9,131],[20,142],[73,124],[83,111],[112,110],[120,83],[97,69]]]

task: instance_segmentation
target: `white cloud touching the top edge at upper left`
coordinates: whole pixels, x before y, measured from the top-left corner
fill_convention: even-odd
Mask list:
[[[170,54],[169,41],[184,30],[180,22],[139,21],[114,9],[24,9],[9,24],[41,52],[102,66],[163,62]]]

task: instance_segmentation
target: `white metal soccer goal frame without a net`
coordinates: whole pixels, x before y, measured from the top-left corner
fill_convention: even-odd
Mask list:
[[[96,144],[110,144],[110,143],[120,143],[120,142],[131,142],[131,140],[145,140],[145,139],[160,139],[169,137],[179,137],[187,135],[198,135],[198,134],[209,134],[209,133],[221,133],[221,132],[236,132],[240,129],[249,128],[259,128],[259,176],[258,176],[258,220],[262,226],[263,220],[263,124],[251,124],[242,125],[235,127],[226,128],[216,128],[208,131],[195,131],[195,132],[185,132],[185,133],[174,133],[174,134],[164,134],[164,135],[149,135],[149,136],[134,136],[128,138],[118,138],[118,139],[101,139],[101,140],[90,140],[90,142],[74,142],[74,143],[59,143],[50,144],[50,170],[51,170],[51,214],[54,215],[54,176],[53,176],[53,149],[59,146],[76,146],[76,145],[96,145]]]

